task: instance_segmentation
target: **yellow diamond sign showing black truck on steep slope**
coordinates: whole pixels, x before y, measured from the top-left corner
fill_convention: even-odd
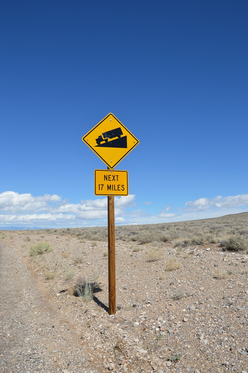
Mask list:
[[[139,143],[112,113],[103,118],[82,140],[110,169]]]

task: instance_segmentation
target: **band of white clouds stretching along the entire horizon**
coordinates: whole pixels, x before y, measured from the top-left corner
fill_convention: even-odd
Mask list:
[[[153,204],[143,203],[149,207]],[[170,204],[158,212],[139,209],[135,194],[116,197],[116,225],[151,224],[184,220],[207,219],[248,210],[248,194],[216,196],[186,201],[182,207]],[[6,191],[0,194],[0,226],[16,228],[66,228],[107,225],[107,197],[69,203],[59,195],[34,197],[30,193]]]

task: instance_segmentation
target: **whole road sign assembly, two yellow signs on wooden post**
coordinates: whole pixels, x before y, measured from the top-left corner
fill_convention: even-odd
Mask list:
[[[108,196],[109,314],[114,315],[116,313],[114,195],[128,195],[128,172],[116,171],[113,168],[138,145],[139,141],[112,113],[87,132],[82,140],[108,166],[107,172],[95,170],[95,195]]]

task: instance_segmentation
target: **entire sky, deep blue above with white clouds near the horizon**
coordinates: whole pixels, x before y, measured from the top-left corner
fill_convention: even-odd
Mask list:
[[[0,226],[107,225],[81,140],[112,112],[139,140],[116,224],[248,211],[247,1],[6,1]]]

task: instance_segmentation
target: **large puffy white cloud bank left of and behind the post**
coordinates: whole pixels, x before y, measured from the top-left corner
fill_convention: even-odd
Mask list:
[[[116,222],[124,223],[122,217],[126,207],[135,206],[135,195],[116,197]],[[107,197],[96,200],[81,200],[71,204],[68,200],[61,201],[58,195],[45,194],[34,197],[30,193],[3,192],[0,194],[0,226],[39,226],[47,228],[50,225],[75,226],[106,223]],[[91,223],[91,224],[92,224]]]

